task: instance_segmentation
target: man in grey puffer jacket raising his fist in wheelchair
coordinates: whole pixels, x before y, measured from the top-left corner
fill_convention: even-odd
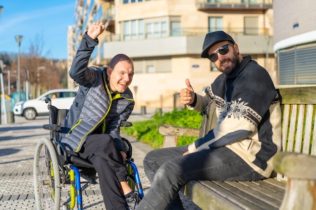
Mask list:
[[[103,23],[94,22],[82,37],[69,71],[79,90],[58,139],[93,164],[107,210],[134,209],[140,198],[127,183],[127,148],[120,136],[120,124],[128,119],[135,104],[128,88],[134,66],[128,56],[118,54],[108,67],[88,67],[104,28]]]

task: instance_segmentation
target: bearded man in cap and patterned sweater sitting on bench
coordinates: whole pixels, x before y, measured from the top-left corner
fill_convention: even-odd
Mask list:
[[[273,171],[272,159],[281,150],[281,108],[268,72],[250,55],[242,57],[223,31],[206,34],[201,57],[223,74],[197,93],[186,79],[180,99],[195,111],[215,99],[218,127],[189,146],[146,155],[151,187],[137,210],[184,209],[178,192],[191,180],[262,180]]]

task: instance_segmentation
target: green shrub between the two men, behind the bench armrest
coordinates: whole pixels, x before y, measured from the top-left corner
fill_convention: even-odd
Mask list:
[[[127,135],[135,137],[138,141],[150,145],[152,149],[159,149],[164,143],[164,136],[159,134],[157,130],[160,124],[200,127],[202,120],[199,112],[189,109],[183,109],[182,111],[175,109],[172,112],[165,113],[163,116],[157,112],[151,118],[151,120],[135,121],[133,126],[122,127],[121,130]],[[178,146],[191,144],[196,139],[196,137],[180,136]]]

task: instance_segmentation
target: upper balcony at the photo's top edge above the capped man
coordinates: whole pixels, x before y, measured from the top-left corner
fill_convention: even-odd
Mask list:
[[[196,0],[199,11],[212,10],[259,10],[272,9],[273,0]]]

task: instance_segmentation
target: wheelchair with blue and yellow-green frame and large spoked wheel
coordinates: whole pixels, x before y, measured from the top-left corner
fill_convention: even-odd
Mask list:
[[[50,194],[50,198],[53,197],[50,200],[54,200],[56,203],[58,204],[53,204],[53,206],[55,206],[55,209],[59,209],[59,203],[60,203],[60,191],[59,193],[55,193],[55,190],[61,190],[61,186],[67,184],[66,180],[68,180],[70,182],[70,197],[61,204],[61,209],[73,209],[75,206],[75,202],[77,200],[77,208],[78,210],[81,210],[83,208],[83,202],[82,202],[82,191],[85,190],[88,186],[90,186],[91,184],[96,185],[98,187],[100,187],[100,185],[96,182],[97,177],[95,178],[90,178],[87,175],[85,175],[84,173],[80,172],[80,170],[82,169],[94,169],[93,165],[78,157],[78,156],[69,156],[68,152],[65,148],[65,146],[61,143],[57,141],[57,132],[61,130],[61,121],[63,121],[63,119],[66,117],[68,110],[59,110],[56,107],[51,105],[51,100],[49,98],[47,98],[45,100],[46,103],[48,103],[48,109],[49,109],[49,123],[50,124],[45,124],[43,125],[44,129],[50,130],[50,143],[48,141],[48,139],[40,139],[39,143],[44,146],[46,146],[46,149],[50,148],[50,151],[48,151],[49,156],[53,156],[53,157],[49,157],[47,159],[49,159],[49,161],[54,161],[54,160],[50,160],[50,159],[56,159],[55,161],[58,162],[58,168],[59,171],[52,171],[52,166],[47,166],[48,168],[48,174],[50,174],[50,179],[51,181],[48,182],[51,185],[54,185],[55,183],[55,179],[59,179],[61,181],[59,181],[58,183],[60,183],[60,186],[54,186],[51,187],[51,194]],[[62,116],[59,116],[61,112]],[[121,126],[131,126],[132,124],[130,122],[123,122],[121,124]],[[44,140],[44,141],[43,141]],[[128,157],[125,161],[126,167],[127,167],[127,171],[128,171],[128,183],[130,185],[130,187],[132,189],[137,189],[137,192],[139,193],[140,198],[142,198],[144,196],[143,194],[143,189],[141,186],[141,182],[140,182],[140,178],[139,178],[139,173],[137,170],[136,165],[133,163],[133,159],[131,158],[131,145],[130,143],[127,141],[127,139],[123,138],[123,140],[127,143],[127,145],[129,146],[129,154]],[[38,143],[38,144],[39,144]],[[54,149],[51,149],[51,146],[49,144],[54,145]],[[38,146],[36,148],[41,148],[41,146]],[[40,149],[38,149],[40,150]],[[36,153],[37,152],[37,153]],[[40,191],[41,187],[40,186],[36,186],[36,185],[44,185],[43,183],[47,182],[47,180],[40,180],[40,176],[39,175],[39,171],[41,171],[40,169],[35,169],[35,167],[40,167],[40,163],[35,163],[35,161],[39,161],[39,151],[35,152],[35,157],[34,157],[34,190],[35,190],[35,198],[36,198],[36,204],[37,204],[37,208],[38,209],[46,209],[45,205],[44,208],[42,208],[42,201],[41,201],[41,196],[43,195],[45,196],[45,193],[40,193],[38,191]],[[52,154],[55,153],[55,154]],[[54,158],[55,157],[55,158]],[[43,164],[42,164],[43,165]],[[47,164],[46,164],[47,165]],[[47,172],[47,170],[45,170]],[[66,174],[67,173],[67,174]],[[36,177],[37,176],[37,177]],[[62,178],[60,178],[62,176]],[[66,177],[66,178],[65,178]],[[81,180],[80,177],[84,178],[85,180],[87,180],[87,182],[81,186]],[[46,186],[45,186],[46,187]],[[48,188],[48,187],[46,187]],[[46,194],[47,194],[46,190]],[[48,193],[49,195],[49,193]],[[59,196],[59,197],[58,197]],[[59,199],[59,201],[57,200]],[[45,202],[45,199],[43,199]],[[48,199],[49,200],[49,199]],[[58,202],[57,202],[58,201]],[[49,207],[48,207],[49,208]],[[50,209],[50,208],[49,208]]]

